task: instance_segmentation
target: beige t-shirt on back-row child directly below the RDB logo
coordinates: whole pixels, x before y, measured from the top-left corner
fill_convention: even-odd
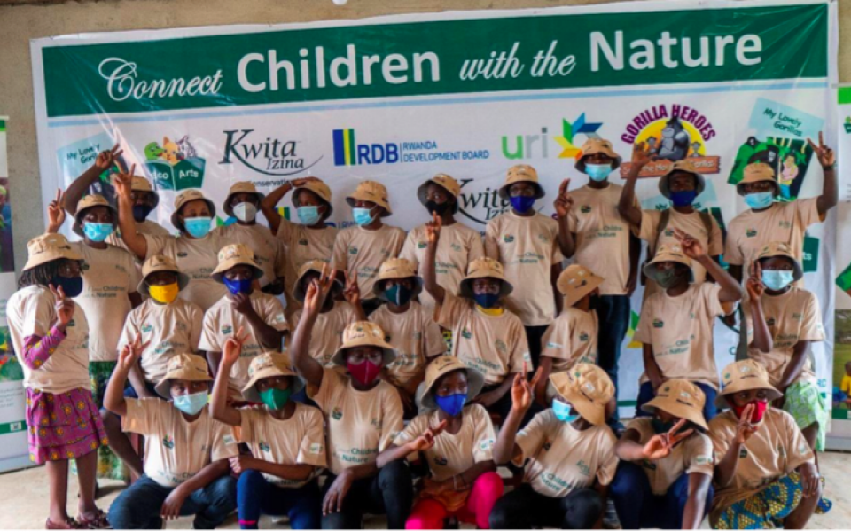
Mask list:
[[[332,264],[337,270],[357,274],[357,283],[364,300],[372,299],[372,285],[379,276],[381,264],[394,259],[402,251],[405,231],[392,225],[382,225],[370,231],[363,227],[347,227],[334,242]]]

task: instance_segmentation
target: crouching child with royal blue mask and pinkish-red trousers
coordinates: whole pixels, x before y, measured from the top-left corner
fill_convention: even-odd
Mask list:
[[[465,406],[479,394],[484,379],[454,356],[428,365],[422,403],[426,409],[379,455],[379,467],[404,458],[422,460],[430,475],[405,528],[434,530],[443,520],[487,529],[490,511],[503,495],[492,450],[496,434],[480,404]]]

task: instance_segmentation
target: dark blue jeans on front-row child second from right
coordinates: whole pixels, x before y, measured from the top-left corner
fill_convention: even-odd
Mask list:
[[[685,504],[689,500],[689,475],[681,474],[665,495],[654,495],[644,467],[633,462],[621,462],[609,489],[609,497],[612,497],[624,530],[679,530],[683,527]],[[704,517],[709,512],[713,497],[714,490],[710,485]]]

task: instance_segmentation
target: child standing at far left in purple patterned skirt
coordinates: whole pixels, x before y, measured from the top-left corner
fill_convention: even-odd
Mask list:
[[[6,317],[27,389],[29,458],[47,465],[50,513],[44,528],[109,528],[95,505],[94,451],[107,439],[91,396],[89,322],[71,299],[82,293],[82,255],[52,233],[30,240],[27,251]],[[80,484],[76,520],[66,510],[71,459]]]

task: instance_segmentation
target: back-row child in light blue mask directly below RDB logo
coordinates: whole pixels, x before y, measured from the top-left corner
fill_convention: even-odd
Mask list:
[[[383,184],[363,181],[346,198],[346,202],[352,207],[357,226],[347,227],[337,235],[332,264],[335,270],[343,270],[356,278],[363,293],[371,294],[381,263],[395,258],[402,251],[405,231],[381,221],[393,214]],[[362,304],[369,316],[378,309],[381,300],[371,298],[362,301]]]

